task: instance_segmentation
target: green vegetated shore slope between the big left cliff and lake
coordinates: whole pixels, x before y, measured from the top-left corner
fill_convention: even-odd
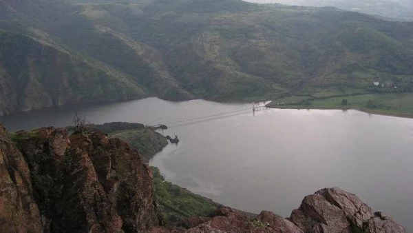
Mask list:
[[[112,122],[102,125],[91,124],[87,127],[92,130],[102,130],[111,138],[123,139],[131,148],[138,150],[144,161],[149,161],[168,144],[165,136],[140,123]],[[151,168],[156,207],[164,224],[176,225],[189,216],[207,216],[218,208],[218,203],[165,181],[158,168]]]

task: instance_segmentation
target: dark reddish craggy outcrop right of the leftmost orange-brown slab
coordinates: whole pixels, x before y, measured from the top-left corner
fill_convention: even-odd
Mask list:
[[[45,232],[142,232],[158,225],[151,169],[124,141],[55,128],[16,139]]]

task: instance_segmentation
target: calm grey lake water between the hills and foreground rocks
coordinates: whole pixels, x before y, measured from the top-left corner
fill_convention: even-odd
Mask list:
[[[337,186],[413,232],[413,119],[353,110],[264,110],[156,98],[0,117],[9,130],[91,123],[166,123],[178,135],[151,161],[168,181],[248,212],[289,216],[304,196]],[[212,117],[205,117],[211,116]],[[193,120],[195,119],[195,120]]]

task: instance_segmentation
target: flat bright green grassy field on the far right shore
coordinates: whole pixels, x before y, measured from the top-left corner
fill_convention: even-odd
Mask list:
[[[356,109],[374,114],[413,117],[413,93],[354,94],[324,98],[292,96],[277,99],[267,106],[270,108]]]

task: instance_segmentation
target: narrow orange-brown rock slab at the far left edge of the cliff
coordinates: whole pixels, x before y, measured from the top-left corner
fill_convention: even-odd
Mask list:
[[[0,232],[42,232],[30,170],[0,125]]]

